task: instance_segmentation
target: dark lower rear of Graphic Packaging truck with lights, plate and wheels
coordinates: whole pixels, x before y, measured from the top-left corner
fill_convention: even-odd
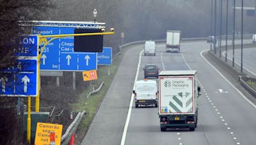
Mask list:
[[[161,131],[166,128],[189,128],[194,131],[197,125],[196,114],[184,115],[159,115]]]

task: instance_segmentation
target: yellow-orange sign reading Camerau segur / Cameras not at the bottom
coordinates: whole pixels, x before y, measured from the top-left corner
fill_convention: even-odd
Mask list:
[[[38,122],[36,125],[35,145],[48,145],[50,142],[60,144],[61,132],[62,125]],[[55,137],[52,137],[52,135],[55,135]]]

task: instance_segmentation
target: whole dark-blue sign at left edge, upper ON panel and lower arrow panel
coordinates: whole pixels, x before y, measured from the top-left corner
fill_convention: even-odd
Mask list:
[[[38,93],[38,37],[22,36],[19,42],[18,59],[0,70],[0,96],[36,97]]]

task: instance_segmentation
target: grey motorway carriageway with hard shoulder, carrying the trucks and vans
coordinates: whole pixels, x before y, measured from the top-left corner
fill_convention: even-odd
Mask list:
[[[228,74],[205,59],[203,54],[209,50],[209,44],[205,41],[182,42],[180,53],[166,53],[161,43],[157,46],[156,56],[140,55],[142,50],[143,45],[127,48],[81,144],[256,143],[256,106],[252,103],[256,100],[247,100],[248,94],[244,95],[237,89],[228,80]],[[198,72],[202,95],[198,99],[198,127],[195,132],[180,128],[161,132],[157,108],[135,109],[132,95],[134,80],[143,79],[145,64],[157,64],[161,70],[193,69]]]

